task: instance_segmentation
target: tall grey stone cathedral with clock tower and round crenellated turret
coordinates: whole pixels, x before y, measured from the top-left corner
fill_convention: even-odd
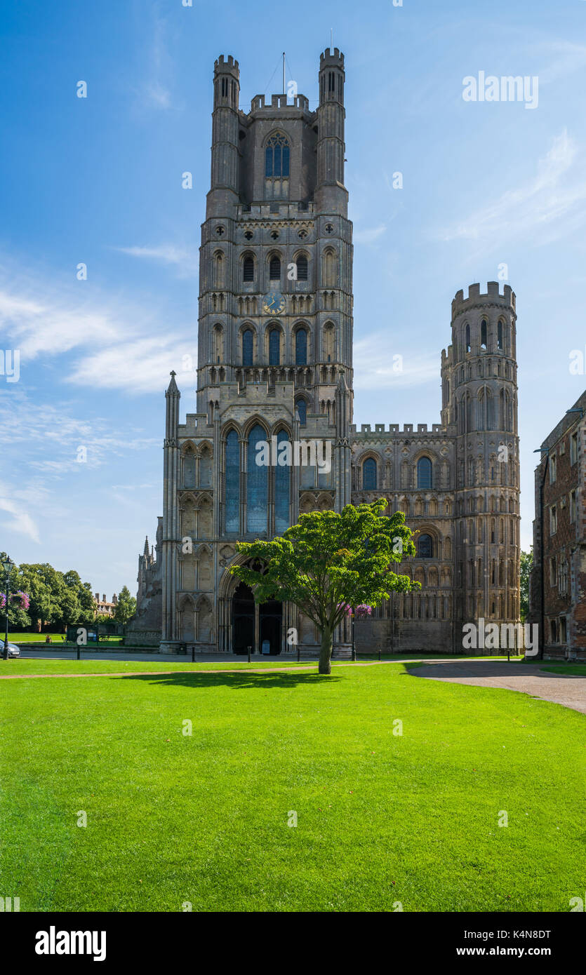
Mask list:
[[[163,517],[138,565],[129,643],[176,652],[317,652],[294,606],[255,606],[228,567],[238,539],[309,511],[385,496],[417,531],[398,567],[422,589],[357,621],[359,650],[457,652],[464,622],[519,618],[515,294],[472,285],[451,303],[441,422],[352,423],[352,224],[344,186],[344,57],[320,58],[319,104],[253,98],[238,61],[214,69],[212,176],[200,250],[197,412],[166,393]],[[329,472],[258,466],[260,442],[331,442]],[[187,539],[187,543],[186,540]],[[349,627],[336,635],[344,655]]]

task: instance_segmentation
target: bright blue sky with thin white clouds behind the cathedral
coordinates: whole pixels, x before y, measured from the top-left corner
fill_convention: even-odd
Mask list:
[[[439,421],[451,298],[473,282],[484,291],[506,263],[527,548],[532,450],[586,384],[568,369],[586,345],[584,0],[0,10],[0,348],[20,350],[19,381],[0,374],[0,549],[74,567],[108,598],[134,591],[162,513],[171,369],[182,415],[195,409],[182,364],[197,348],[214,60],[240,61],[248,111],[280,91],[285,49],[288,80],[315,107],[331,28],[346,59],[355,420]],[[538,106],[464,101],[462,80],[479,71],[537,76]]]

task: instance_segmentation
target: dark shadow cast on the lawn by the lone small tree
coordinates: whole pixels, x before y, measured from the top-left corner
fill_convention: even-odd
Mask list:
[[[314,673],[302,674],[290,671],[272,674],[253,674],[250,671],[218,672],[212,671],[181,671],[176,674],[128,674],[115,677],[118,681],[144,681],[167,687],[193,687],[209,689],[213,687],[229,687],[231,690],[272,690],[274,687],[291,689],[297,684],[313,685],[323,683],[339,683],[348,678]]]

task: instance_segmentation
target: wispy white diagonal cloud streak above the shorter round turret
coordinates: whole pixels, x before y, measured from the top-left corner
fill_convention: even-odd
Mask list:
[[[452,224],[441,238],[476,240],[492,246],[513,239],[542,244],[558,240],[585,222],[584,153],[564,130],[539,160],[535,176]]]

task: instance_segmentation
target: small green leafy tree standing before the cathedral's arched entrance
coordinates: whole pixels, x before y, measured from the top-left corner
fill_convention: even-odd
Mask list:
[[[252,561],[230,572],[254,591],[254,602],[290,602],[315,623],[321,637],[320,674],[332,673],[332,638],[348,606],[376,606],[391,592],[420,589],[393,563],[415,555],[412,532],[403,512],[383,515],[387,501],[346,505],[333,511],[301,515],[271,541],[237,542]]]

